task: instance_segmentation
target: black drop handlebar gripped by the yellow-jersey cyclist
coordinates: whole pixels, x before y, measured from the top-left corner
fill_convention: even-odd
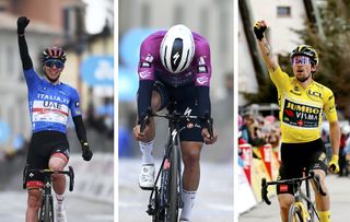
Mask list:
[[[310,180],[313,179],[315,182],[317,192],[319,192],[322,196],[326,196],[327,194],[323,190],[319,182],[319,175],[316,175],[315,172],[310,171],[308,176],[301,177],[301,178],[292,178],[292,179],[282,179],[277,182],[266,182],[266,178],[264,177],[261,179],[261,198],[267,205],[271,205],[271,201],[269,200],[267,194],[268,194],[268,186],[270,185],[280,185],[280,184],[296,184],[303,180]],[[299,185],[300,186],[300,185]]]

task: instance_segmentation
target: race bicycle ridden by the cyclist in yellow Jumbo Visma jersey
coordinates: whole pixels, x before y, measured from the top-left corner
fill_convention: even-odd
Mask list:
[[[294,194],[294,202],[289,208],[288,221],[289,222],[314,222],[315,218],[318,219],[317,211],[315,209],[314,202],[311,199],[310,192],[310,183],[313,180],[317,192],[322,196],[326,196],[326,192],[322,189],[319,183],[319,176],[316,175],[313,171],[308,172],[307,176],[301,178],[292,179],[282,179],[277,182],[266,182],[266,178],[261,179],[261,197],[267,205],[271,205],[271,201],[268,199],[268,186],[270,185],[292,185]],[[305,191],[301,188],[302,182],[305,182]],[[306,203],[306,207],[305,207]],[[315,217],[316,215],[316,217]]]

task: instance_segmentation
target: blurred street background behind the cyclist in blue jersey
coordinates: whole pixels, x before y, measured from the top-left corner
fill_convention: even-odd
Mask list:
[[[46,47],[61,46],[68,59],[60,80],[80,93],[91,149],[109,155],[114,149],[113,0],[1,0],[0,177],[7,179],[0,180],[0,190],[22,186],[19,175],[31,138],[27,89],[16,34],[16,20],[23,15],[31,20],[26,40],[35,70],[43,74],[39,58]],[[80,153],[72,120],[68,138],[71,153]]]

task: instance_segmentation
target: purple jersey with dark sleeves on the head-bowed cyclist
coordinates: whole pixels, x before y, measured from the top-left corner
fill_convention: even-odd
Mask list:
[[[194,59],[187,70],[180,73],[171,73],[162,65],[160,47],[166,31],[159,31],[148,36],[141,44],[140,61],[138,67],[138,115],[139,119],[151,106],[152,89],[154,81],[160,81],[171,87],[180,87],[194,84],[197,93],[188,96],[197,96],[201,116],[210,115],[210,47],[207,39],[197,33],[192,33],[195,40]]]

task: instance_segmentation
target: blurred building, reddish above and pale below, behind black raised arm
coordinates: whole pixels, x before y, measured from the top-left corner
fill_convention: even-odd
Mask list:
[[[18,44],[18,17],[25,15],[31,20],[26,40],[34,68],[39,72],[43,49],[62,45],[72,38],[78,28],[73,25],[78,9],[84,9],[81,0],[0,1],[0,122],[5,122],[10,130],[5,142],[1,141],[0,150],[11,147],[18,135],[26,139],[31,136],[27,87]],[[0,128],[0,138],[2,133],[3,129]]]

